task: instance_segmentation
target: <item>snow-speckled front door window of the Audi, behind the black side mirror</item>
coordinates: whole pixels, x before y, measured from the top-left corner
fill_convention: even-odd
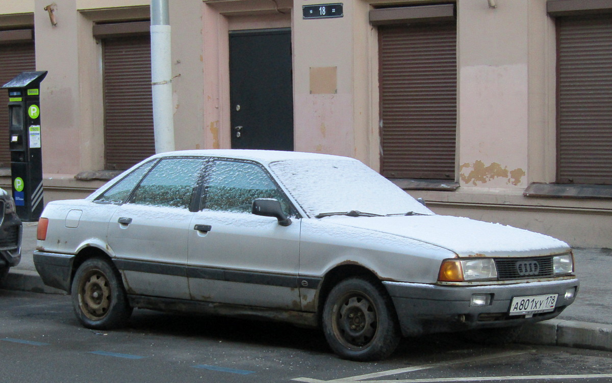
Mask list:
[[[201,210],[251,213],[253,200],[277,199],[286,215],[295,215],[291,202],[261,167],[235,161],[213,161],[204,183]]]

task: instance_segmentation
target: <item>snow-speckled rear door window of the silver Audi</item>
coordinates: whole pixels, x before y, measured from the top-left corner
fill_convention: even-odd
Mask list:
[[[189,208],[203,159],[167,158],[159,161],[136,187],[129,203]]]

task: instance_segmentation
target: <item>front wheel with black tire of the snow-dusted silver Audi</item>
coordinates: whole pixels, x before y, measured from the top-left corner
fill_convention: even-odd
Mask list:
[[[332,288],[323,308],[327,343],[343,359],[388,357],[400,342],[395,308],[378,280],[351,278]]]

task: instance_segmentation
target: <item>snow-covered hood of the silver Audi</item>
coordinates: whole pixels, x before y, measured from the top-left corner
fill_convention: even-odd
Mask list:
[[[390,233],[448,249],[459,257],[535,257],[568,252],[551,236],[502,224],[452,216],[323,218],[335,225]]]

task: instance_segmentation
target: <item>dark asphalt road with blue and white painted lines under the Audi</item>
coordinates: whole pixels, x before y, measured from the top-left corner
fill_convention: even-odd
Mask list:
[[[0,382],[610,382],[612,353],[458,337],[406,339],[388,360],[338,359],[317,330],[135,310],[84,329],[69,296],[0,290]]]

